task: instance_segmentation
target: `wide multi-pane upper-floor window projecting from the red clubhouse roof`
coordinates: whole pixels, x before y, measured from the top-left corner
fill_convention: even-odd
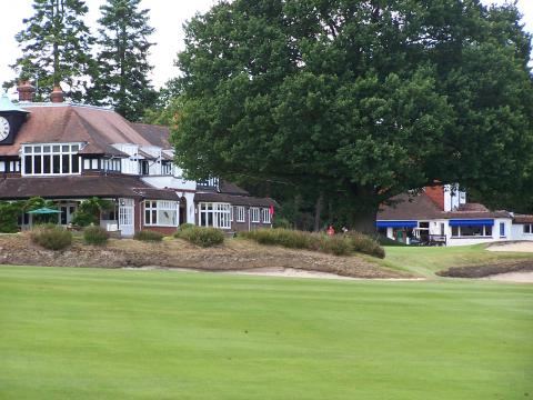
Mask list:
[[[64,176],[80,173],[81,143],[40,143],[22,146],[23,176]]]

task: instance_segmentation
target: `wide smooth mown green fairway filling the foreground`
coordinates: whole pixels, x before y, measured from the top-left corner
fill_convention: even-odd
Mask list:
[[[533,398],[533,287],[0,267],[0,399]]]

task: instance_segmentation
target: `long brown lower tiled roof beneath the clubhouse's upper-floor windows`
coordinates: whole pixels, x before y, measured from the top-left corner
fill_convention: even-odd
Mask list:
[[[178,200],[173,190],[154,189],[137,177],[76,176],[53,178],[6,178],[0,180],[0,199],[59,198],[145,198]]]

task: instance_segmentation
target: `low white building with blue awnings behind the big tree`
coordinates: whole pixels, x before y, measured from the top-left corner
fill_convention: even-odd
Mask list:
[[[456,186],[424,188],[400,194],[378,213],[378,230],[405,243],[461,246],[533,240],[533,216],[491,211],[469,203]]]

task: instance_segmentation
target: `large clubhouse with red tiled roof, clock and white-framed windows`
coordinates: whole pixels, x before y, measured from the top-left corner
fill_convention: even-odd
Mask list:
[[[228,232],[272,226],[272,199],[217,178],[184,179],[173,163],[169,129],[64,102],[60,88],[46,103],[32,101],[28,82],[18,91],[17,104],[7,94],[0,99],[1,201],[52,200],[59,223],[69,226],[81,201],[110,200],[114,208],[101,213],[100,223],[124,237],[143,229],[169,234],[185,222]]]

